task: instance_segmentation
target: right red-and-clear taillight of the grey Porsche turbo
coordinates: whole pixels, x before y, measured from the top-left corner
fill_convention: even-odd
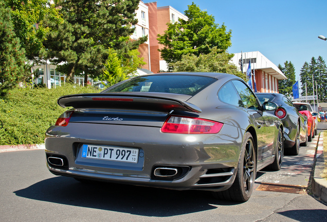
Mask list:
[[[215,134],[223,127],[223,123],[191,117],[171,116],[163,124],[161,132],[180,134]]]

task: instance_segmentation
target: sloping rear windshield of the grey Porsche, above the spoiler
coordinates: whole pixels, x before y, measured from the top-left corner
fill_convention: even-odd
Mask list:
[[[122,84],[104,90],[103,93],[114,92],[151,92],[173,93],[194,96],[216,79],[203,76],[187,75],[154,75],[135,77]]]

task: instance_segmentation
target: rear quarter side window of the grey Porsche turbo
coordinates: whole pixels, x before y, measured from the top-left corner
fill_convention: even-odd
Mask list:
[[[244,107],[242,100],[232,82],[226,83],[218,92],[218,98],[227,104]]]

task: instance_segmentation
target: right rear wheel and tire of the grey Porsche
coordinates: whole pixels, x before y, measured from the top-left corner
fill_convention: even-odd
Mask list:
[[[213,196],[238,202],[247,201],[253,191],[257,174],[257,159],[252,135],[246,132],[238,163],[237,174],[232,186],[221,192],[214,192]]]

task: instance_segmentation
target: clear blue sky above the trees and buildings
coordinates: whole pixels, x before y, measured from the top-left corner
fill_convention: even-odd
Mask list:
[[[294,64],[297,79],[304,62],[319,55],[327,61],[326,0],[157,0],[157,7],[183,12],[194,2],[232,30],[229,53],[260,51],[271,62]]]

